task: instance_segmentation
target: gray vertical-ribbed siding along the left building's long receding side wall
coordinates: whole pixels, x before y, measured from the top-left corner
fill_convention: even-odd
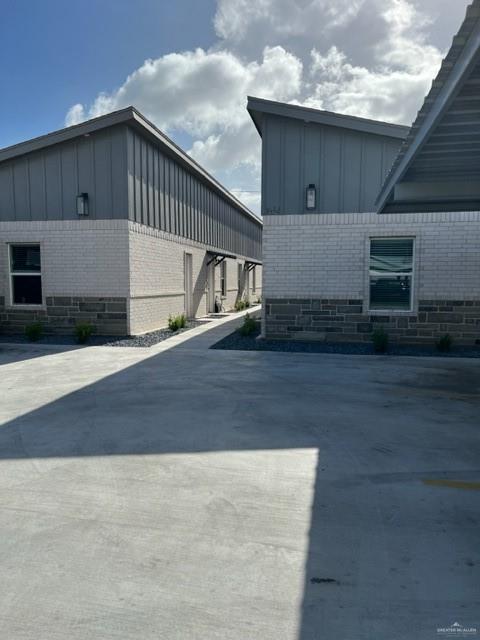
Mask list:
[[[259,223],[130,127],[126,148],[130,220],[261,259]]]

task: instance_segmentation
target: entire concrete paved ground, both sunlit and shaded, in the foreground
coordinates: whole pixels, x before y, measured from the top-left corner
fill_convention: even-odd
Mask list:
[[[0,351],[1,637],[480,628],[480,363],[206,350],[227,330]]]

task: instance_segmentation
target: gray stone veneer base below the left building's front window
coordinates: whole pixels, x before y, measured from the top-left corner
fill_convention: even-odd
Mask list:
[[[5,306],[0,297],[0,331],[23,333],[31,322],[41,322],[46,334],[73,334],[75,325],[90,322],[98,335],[127,334],[126,298],[47,297],[42,308]]]

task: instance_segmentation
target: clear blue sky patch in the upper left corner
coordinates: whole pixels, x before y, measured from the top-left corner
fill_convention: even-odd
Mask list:
[[[0,148],[60,128],[70,106],[146,58],[215,38],[214,0],[2,0]]]

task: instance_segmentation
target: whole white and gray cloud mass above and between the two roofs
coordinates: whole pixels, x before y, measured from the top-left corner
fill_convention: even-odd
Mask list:
[[[246,96],[410,123],[441,59],[415,1],[218,0],[211,49],[146,60],[117,90],[73,105],[66,123],[133,104],[187,134],[196,160],[258,204],[246,183],[256,189],[260,171]]]

